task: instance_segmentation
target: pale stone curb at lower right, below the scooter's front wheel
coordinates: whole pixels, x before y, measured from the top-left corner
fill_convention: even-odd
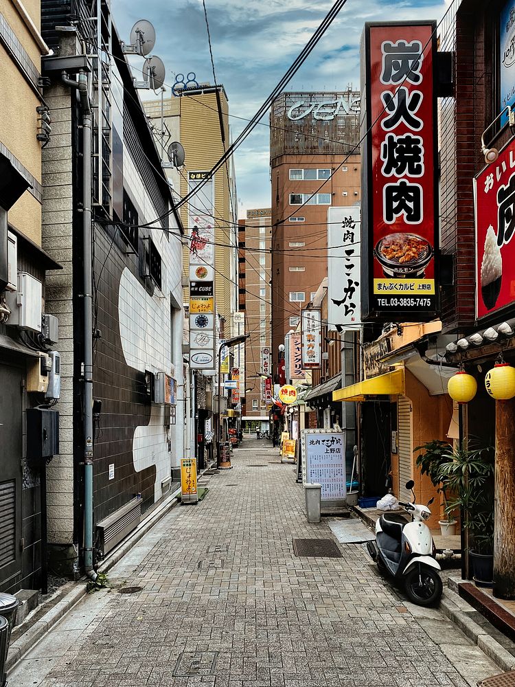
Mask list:
[[[439,609],[444,613],[449,620],[452,620],[459,629],[467,635],[467,637],[479,646],[492,661],[501,668],[505,673],[515,670],[515,657],[504,648],[488,631],[479,623],[475,622],[474,618],[470,617],[471,613],[477,613],[472,606],[470,611],[463,611],[453,599],[463,600],[448,588],[445,590],[444,596],[440,601]],[[468,605],[468,604],[467,604]],[[490,624],[490,623],[488,623]],[[493,628],[492,628],[493,629]]]

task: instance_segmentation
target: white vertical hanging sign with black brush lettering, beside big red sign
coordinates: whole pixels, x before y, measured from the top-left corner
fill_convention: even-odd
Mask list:
[[[361,207],[328,210],[328,328],[361,324]]]

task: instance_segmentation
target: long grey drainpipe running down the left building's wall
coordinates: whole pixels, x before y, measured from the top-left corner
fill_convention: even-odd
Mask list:
[[[62,82],[78,89],[82,110],[82,252],[84,271],[84,570],[91,579],[93,568],[93,284],[91,255],[91,106],[88,77],[78,81],[62,72]]]

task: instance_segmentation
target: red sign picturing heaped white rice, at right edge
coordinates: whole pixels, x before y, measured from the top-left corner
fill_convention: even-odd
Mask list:
[[[515,302],[515,143],[474,179],[476,202],[476,315]]]

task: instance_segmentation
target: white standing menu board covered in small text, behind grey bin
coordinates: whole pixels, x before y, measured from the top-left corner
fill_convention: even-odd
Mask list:
[[[321,484],[322,501],[345,499],[345,432],[301,429],[301,451],[304,484]]]

